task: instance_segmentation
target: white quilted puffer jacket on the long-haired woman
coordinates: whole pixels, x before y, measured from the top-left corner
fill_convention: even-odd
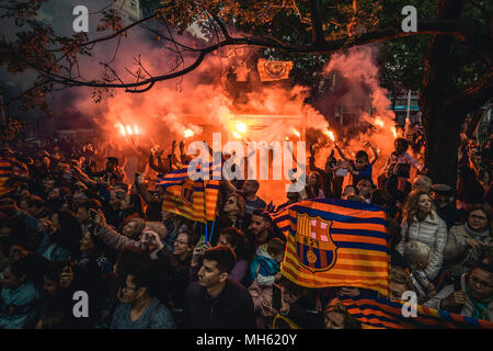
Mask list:
[[[438,275],[444,263],[444,249],[447,244],[447,225],[435,211],[432,211],[423,222],[419,222],[414,217],[414,222],[409,228],[409,241],[417,240],[429,247],[429,264],[425,269],[426,276],[434,280]],[[408,236],[408,222],[402,223],[401,228],[402,240],[398,244],[397,250],[404,254],[404,244]]]

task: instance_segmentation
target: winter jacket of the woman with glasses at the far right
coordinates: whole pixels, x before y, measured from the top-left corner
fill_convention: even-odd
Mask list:
[[[467,223],[451,227],[448,233],[447,245],[445,246],[444,260],[445,267],[452,275],[468,273],[471,265],[481,258],[482,252],[478,252],[468,246],[467,241],[469,239],[493,246],[493,237],[490,236],[490,230],[477,233],[470,229]]]

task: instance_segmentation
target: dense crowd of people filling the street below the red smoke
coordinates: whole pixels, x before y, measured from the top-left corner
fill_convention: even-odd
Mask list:
[[[434,184],[410,141],[395,139],[378,174],[371,145],[371,159],[365,150],[351,159],[335,145],[324,169],[310,147],[306,189],[277,208],[314,197],[386,207],[389,297],[413,291],[422,305],[493,320],[493,138],[484,147],[462,138],[457,184]],[[184,144],[179,157],[176,146],[168,159],[139,150],[139,170],[159,179],[186,165]],[[129,183],[123,157],[96,144],[21,140],[0,157],[0,328],[357,329],[337,296],[377,295],[285,279],[286,238],[256,180],[221,181],[205,240],[202,223],[162,211],[165,191],[141,173]],[[82,317],[76,292],[88,296]]]

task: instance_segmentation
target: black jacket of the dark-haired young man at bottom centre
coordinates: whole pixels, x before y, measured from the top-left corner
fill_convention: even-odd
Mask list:
[[[213,301],[205,287],[193,282],[185,292],[184,328],[255,329],[252,297],[243,286],[228,279]]]

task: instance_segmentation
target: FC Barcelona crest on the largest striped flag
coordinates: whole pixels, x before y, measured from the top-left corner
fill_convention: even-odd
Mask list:
[[[337,247],[331,238],[332,220],[298,214],[296,252],[300,264],[311,272],[330,270],[337,258]]]

